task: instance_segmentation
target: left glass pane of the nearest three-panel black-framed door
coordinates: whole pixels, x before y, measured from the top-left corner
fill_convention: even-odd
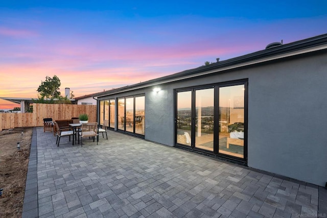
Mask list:
[[[177,143],[191,146],[192,91],[177,92]]]

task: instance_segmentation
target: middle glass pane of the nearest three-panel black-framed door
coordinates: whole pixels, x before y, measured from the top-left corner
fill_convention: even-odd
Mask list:
[[[195,91],[195,147],[214,151],[214,89]]]

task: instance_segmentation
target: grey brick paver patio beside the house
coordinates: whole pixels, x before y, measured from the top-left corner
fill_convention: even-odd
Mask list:
[[[322,187],[113,131],[81,148],[34,128],[26,184],[23,217],[326,216]]]

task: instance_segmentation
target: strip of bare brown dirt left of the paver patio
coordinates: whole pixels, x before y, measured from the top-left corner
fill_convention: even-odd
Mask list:
[[[33,128],[0,131],[0,217],[21,217],[32,134]]]

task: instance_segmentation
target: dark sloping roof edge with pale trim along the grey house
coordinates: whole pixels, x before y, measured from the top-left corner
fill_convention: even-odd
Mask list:
[[[261,50],[258,52],[250,53],[236,58],[219,61],[206,66],[200,66],[197,68],[184,70],[172,75],[156,78],[153,80],[148,80],[142,83],[136,83],[130,86],[124,86],[121,88],[104,91],[102,92],[102,94],[99,93],[99,95],[95,93],[95,95],[93,96],[99,98],[109,94],[116,94],[120,92],[146,88],[149,86],[155,86],[163,83],[180,81],[180,80],[198,77],[202,75],[212,74],[213,72],[221,72],[228,69],[235,69],[235,68],[244,67],[252,64],[263,63],[271,60],[286,58],[286,57],[300,55],[300,54],[306,54],[306,53],[325,50],[325,49],[327,49],[327,34],[322,34],[319,36],[271,47],[269,49]]]

